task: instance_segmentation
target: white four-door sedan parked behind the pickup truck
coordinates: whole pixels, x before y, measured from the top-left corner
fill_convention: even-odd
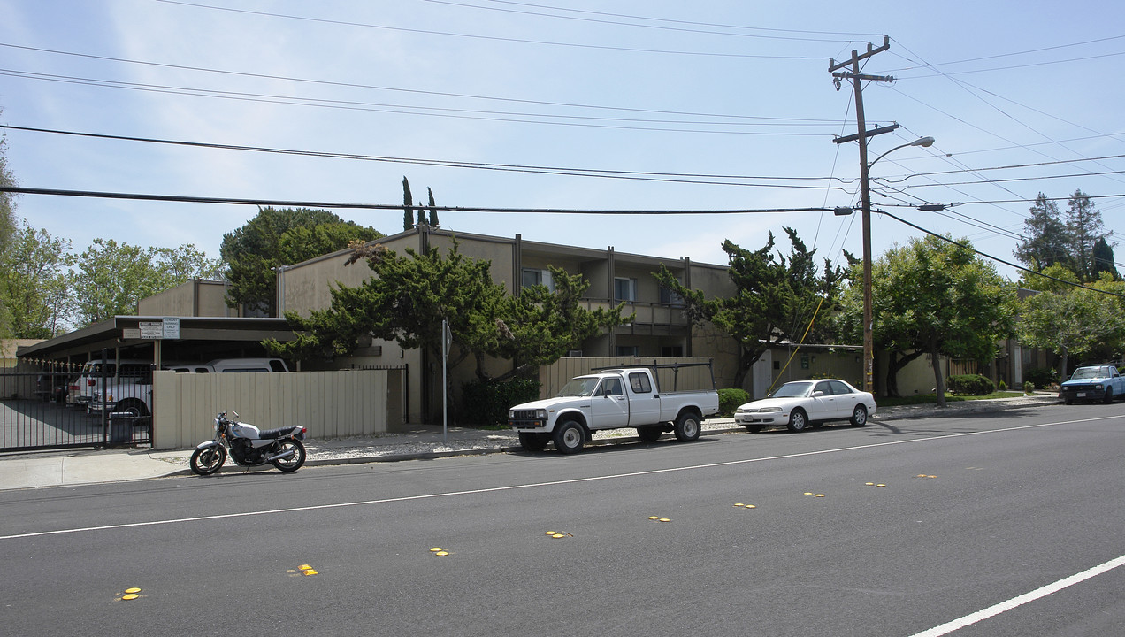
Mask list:
[[[785,383],[770,397],[739,406],[735,422],[750,433],[780,425],[801,431],[830,420],[847,420],[855,427],[863,427],[874,414],[875,398],[868,392],[828,378]]]

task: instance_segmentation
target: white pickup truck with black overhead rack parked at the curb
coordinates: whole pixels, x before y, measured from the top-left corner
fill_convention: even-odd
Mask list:
[[[598,429],[636,428],[646,442],[666,431],[674,431],[684,442],[695,440],[703,419],[719,412],[719,393],[662,392],[654,371],[622,367],[578,376],[554,398],[512,407],[508,425],[528,451],[542,451],[554,442],[561,454],[577,454]]]

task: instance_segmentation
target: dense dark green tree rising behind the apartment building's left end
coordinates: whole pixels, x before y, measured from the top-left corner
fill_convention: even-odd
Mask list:
[[[310,230],[321,225],[328,227]],[[328,210],[259,208],[254,218],[223,235],[219,254],[231,281],[226,303],[243,305],[249,315],[273,316],[278,268],[342,250],[351,240],[380,236],[375,228],[345,222]]]

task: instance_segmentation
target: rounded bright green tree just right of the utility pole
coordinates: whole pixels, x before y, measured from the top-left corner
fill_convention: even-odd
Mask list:
[[[854,312],[862,290],[852,286]],[[1015,288],[979,259],[966,240],[927,236],[896,246],[872,264],[872,332],[876,347],[893,352],[891,378],[904,361],[926,353],[934,368],[937,404],[945,406],[940,357],[987,361],[997,341],[1012,333]],[[898,367],[893,362],[901,362]]]

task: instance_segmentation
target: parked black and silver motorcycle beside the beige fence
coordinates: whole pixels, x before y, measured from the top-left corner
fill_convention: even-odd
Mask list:
[[[227,449],[231,459],[244,467],[272,464],[282,473],[291,473],[305,464],[304,427],[282,427],[262,431],[256,427],[227,420],[226,412],[215,416],[215,438],[200,442],[191,454],[191,470],[198,475],[210,475],[226,463]]]

